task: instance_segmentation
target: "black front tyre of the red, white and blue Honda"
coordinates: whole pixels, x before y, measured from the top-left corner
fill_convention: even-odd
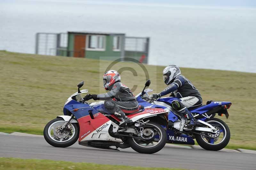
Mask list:
[[[78,137],[79,137],[79,126],[77,123],[72,123],[71,127],[74,128],[75,132],[70,132],[72,133],[72,135],[70,135],[70,139],[68,138],[67,141],[57,141],[57,137],[50,137],[49,133],[51,134],[51,132],[49,132],[49,128],[51,128],[53,125],[59,123],[59,126],[65,123],[65,120],[63,120],[62,118],[56,118],[51,120],[50,122],[48,122],[46,124],[46,126],[44,127],[44,139],[46,140],[47,143],[49,143],[50,145],[54,146],[54,147],[61,147],[61,148],[66,148],[68,146],[73,145]],[[73,134],[74,133],[74,134]],[[67,136],[68,137],[68,136]],[[65,139],[64,139],[65,140]]]

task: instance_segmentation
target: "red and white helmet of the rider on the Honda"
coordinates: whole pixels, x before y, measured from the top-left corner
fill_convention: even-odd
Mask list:
[[[103,75],[103,86],[106,90],[111,90],[109,87],[117,81],[121,81],[121,76],[115,70],[109,70]]]

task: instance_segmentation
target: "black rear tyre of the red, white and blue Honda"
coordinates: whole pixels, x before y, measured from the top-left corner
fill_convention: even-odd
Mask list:
[[[128,138],[128,143],[131,145],[131,148],[134,151],[137,151],[139,153],[146,153],[146,154],[156,153],[156,152],[160,151],[161,149],[163,149],[163,147],[167,141],[166,131],[164,130],[164,128],[161,125],[159,125],[158,123],[155,123],[155,122],[150,122],[150,123],[147,123],[146,125],[150,125],[150,126],[154,127],[155,129],[157,129],[158,133],[160,134],[159,135],[160,139],[159,139],[158,143],[152,147],[143,147],[143,146],[139,145],[138,143],[136,143],[136,138],[132,138],[132,137]]]

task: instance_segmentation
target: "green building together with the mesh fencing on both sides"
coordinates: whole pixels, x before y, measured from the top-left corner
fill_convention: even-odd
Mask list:
[[[49,42],[49,40],[53,40],[53,42]],[[100,57],[100,59],[106,60],[131,57],[142,63],[147,63],[148,46],[148,37],[126,37],[125,34],[121,33],[36,34],[36,54],[44,55],[95,59]]]

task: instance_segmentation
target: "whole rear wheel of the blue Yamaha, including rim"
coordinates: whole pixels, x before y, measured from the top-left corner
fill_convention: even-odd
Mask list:
[[[228,125],[223,120],[217,118],[211,118],[207,120],[206,123],[211,124],[215,128],[217,127],[218,133],[220,133],[220,135],[216,138],[208,138],[202,135],[196,135],[196,142],[202,148],[209,151],[219,151],[225,148],[230,140],[230,130]],[[214,137],[214,134],[209,135]]]

